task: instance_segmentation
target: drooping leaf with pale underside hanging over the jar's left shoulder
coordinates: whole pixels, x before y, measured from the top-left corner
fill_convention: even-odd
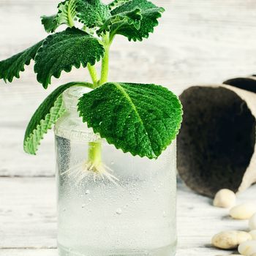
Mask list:
[[[63,86],[59,86],[53,91],[42,104],[37,108],[37,111],[29,121],[29,125],[26,129],[23,148],[26,153],[36,154],[37,148],[40,145],[48,129],[51,129],[53,124],[63,115],[65,109],[62,102],[62,93],[69,89],[71,86],[87,86],[89,83],[67,83]]]

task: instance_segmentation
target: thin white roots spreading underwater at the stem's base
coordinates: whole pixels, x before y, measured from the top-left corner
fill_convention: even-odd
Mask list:
[[[75,178],[77,180],[76,185],[80,184],[83,181],[83,178],[86,178],[87,176],[92,176],[94,181],[97,181],[99,178],[102,178],[102,180],[106,178],[113,182],[113,184],[118,185],[118,178],[113,176],[113,174],[110,172],[113,173],[113,170],[107,165],[104,165],[102,162],[94,164],[93,162],[89,161],[82,162],[69,168],[69,170],[61,173],[61,176],[67,174],[67,176]]]

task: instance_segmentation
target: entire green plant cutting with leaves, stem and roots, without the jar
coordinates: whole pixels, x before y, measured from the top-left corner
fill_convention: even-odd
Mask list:
[[[52,16],[42,16],[48,37],[31,48],[0,62],[0,78],[12,82],[20,78],[25,65],[34,60],[37,80],[47,89],[51,78],[70,72],[80,65],[89,69],[92,83],[72,82],[53,91],[32,116],[26,129],[24,151],[36,154],[40,140],[64,114],[62,94],[72,86],[91,89],[78,101],[78,113],[95,133],[108,143],[133,156],[157,159],[176,138],[181,126],[181,103],[178,97],[162,86],[137,83],[108,83],[110,45],[116,35],[129,41],[142,41],[158,25],[164,9],[147,0],[66,0]],[[56,33],[59,26],[64,31]],[[94,65],[102,61],[98,78]],[[89,143],[89,155],[82,165],[82,176],[115,177],[102,163],[100,142]]]

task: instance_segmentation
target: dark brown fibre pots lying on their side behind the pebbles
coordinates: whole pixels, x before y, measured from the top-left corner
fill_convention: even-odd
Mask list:
[[[178,173],[188,187],[214,197],[256,182],[256,77],[192,86],[181,94]]]

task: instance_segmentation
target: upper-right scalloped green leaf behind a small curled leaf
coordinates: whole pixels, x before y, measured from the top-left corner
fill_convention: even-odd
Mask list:
[[[111,37],[115,34],[121,34],[128,37],[129,41],[142,41],[143,38],[148,38],[149,33],[154,32],[154,27],[158,25],[158,18],[162,16],[165,10],[162,7],[157,7],[147,0],[132,0],[127,1],[119,7],[111,11],[111,15],[118,15],[123,12],[130,12],[135,9],[141,10],[142,20],[140,28],[137,29],[131,24],[116,23],[111,27]]]

